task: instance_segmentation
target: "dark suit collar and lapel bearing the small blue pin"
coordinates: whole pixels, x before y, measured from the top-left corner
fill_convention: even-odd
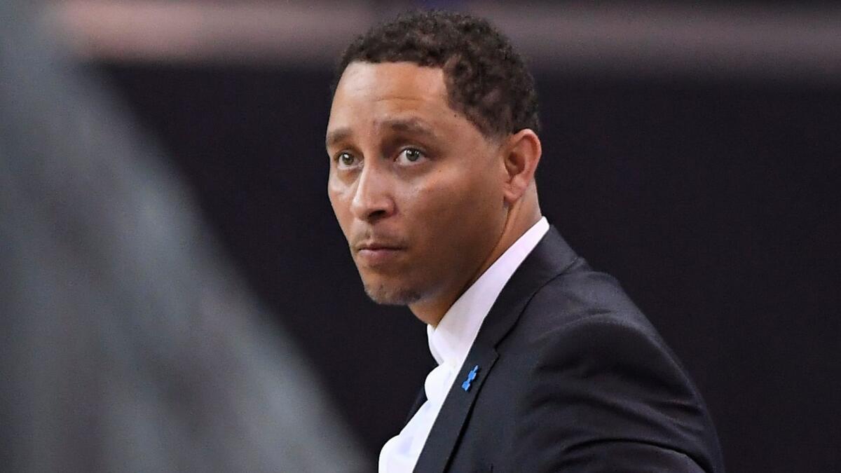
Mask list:
[[[447,469],[473,402],[479,396],[484,380],[499,357],[496,345],[514,327],[532,295],[543,284],[569,268],[575,258],[575,253],[552,226],[520,268],[517,268],[485,317],[467,359],[464,360],[461,371],[447,393],[441,411],[438,412],[438,417],[426,438],[415,471],[427,473]],[[465,390],[463,383],[475,366],[479,366],[476,377]],[[420,396],[419,400],[420,402],[415,402],[413,412],[421,407],[426,396]]]

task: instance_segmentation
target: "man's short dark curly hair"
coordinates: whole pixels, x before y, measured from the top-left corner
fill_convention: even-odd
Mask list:
[[[412,11],[378,24],[347,47],[332,90],[354,61],[409,61],[441,67],[449,106],[485,136],[540,130],[537,91],[510,41],[487,20],[464,13]]]

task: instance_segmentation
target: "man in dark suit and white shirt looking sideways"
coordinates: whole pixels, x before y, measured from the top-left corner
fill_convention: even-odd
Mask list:
[[[542,217],[532,77],[487,22],[410,13],[346,50],[328,194],[368,295],[438,362],[380,471],[723,471],[685,370]]]

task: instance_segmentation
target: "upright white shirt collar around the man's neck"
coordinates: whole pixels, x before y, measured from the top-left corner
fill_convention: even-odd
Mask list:
[[[464,291],[437,327],[426,326],[429,349],[438,364],[451,364],[453,368],[463,364],[502,288],[548,230],[549,223],[542,217]]]

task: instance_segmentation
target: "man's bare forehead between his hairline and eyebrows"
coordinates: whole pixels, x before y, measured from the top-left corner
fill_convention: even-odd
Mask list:
[[[336,85],[328,130],[373,123],[399,114],[452,114],[444,72],[410,62],[352,62]]]

